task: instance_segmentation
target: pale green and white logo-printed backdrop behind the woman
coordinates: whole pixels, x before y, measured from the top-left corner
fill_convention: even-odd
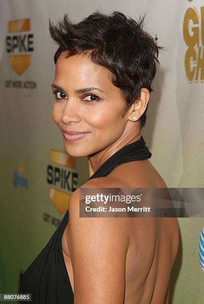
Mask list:
[[[48,19],[68,13],[78,22],[96,9],[135,19],[146,13],[144,29],[165,47],[142,130],[150,161],[168,187],[204,186],[204,1],[0,0],[0,293],[18,292],[69,195],[88,179],[86,158],[65,152],[52,120],[57,46]],[[179,226],[170,303],[204,303],[204,219]]]

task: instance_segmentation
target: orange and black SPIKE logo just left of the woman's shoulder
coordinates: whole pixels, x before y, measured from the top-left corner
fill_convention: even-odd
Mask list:
[[[75,158],[67,152],[51,150],[50,162],[47,166],[49,198],[59,214],[63,214],[68,210],[69,197],[78,185],[78,173],[74,170]]]

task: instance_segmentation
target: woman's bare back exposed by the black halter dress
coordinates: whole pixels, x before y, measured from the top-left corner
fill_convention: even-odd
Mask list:
[[[162,177],[148,160],[124,163],[114,168],[108,176],[96,180],[97,187],[166,188]],[[89,181],[82,187],[88,185]],[[169,279],[179,243],[177,218],[127,220],[130,242],[126,256],[124,304],[167,304]],[[65,230],[63,254],[74,290],[68,245]]]

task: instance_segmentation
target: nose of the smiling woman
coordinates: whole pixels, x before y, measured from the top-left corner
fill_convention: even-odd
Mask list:
[[[80,120],[81,119],[78,111],[77,100],[75,98],[69,98],[63,109],[61,121],[65,125],[68,125],[72,122],[77,123]]]

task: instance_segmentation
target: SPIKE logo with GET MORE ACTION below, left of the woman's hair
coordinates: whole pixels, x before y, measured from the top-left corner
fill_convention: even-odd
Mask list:
[[[31,33],[30,19],[8,21],[6,52],[9,66],[21,76],[31,65],[31,54],[34,52],[34,35]],[[36,88],[35,81],[5,80],[6,87]]]

